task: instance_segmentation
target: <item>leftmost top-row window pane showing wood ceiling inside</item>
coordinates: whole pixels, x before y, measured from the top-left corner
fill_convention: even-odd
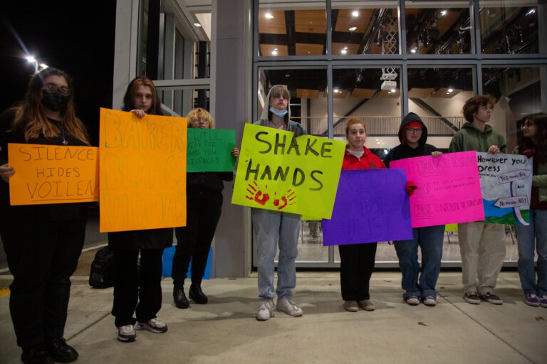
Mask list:
[[[287,9],[287,3],[259,1],[259,55],[326,54],[325,1],[298,5]]]

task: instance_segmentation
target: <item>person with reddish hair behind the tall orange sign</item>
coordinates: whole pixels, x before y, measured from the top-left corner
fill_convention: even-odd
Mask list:
[[[130,82],[123,105],[123,111],[131,112],[139,119],[146,114],[162,115],[156,87],[146,77],[136,77]],[[118,341],[135,341],[135,328],[152,333],[167,331],[167,325],[157,319],[156,314],[162,306],[163,250],[170,247],[172,241],[172,228],[108,233],[108,248],[114,252],[112,314]]]

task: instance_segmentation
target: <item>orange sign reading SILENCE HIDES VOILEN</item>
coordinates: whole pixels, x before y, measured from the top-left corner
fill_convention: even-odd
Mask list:
[[[99,199],[98,149],[93,146],[8,144],[11,205]]]

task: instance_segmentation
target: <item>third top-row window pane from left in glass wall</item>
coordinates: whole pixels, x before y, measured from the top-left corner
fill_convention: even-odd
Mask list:
[[[473,53],[469,1],[406,2],[407,54]]]

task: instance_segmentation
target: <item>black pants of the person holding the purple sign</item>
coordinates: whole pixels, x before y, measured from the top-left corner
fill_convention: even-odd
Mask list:
[[[370,299],[368,292],[373,275],[377,243],[338,245],[340,252],[340,287],[344,301]]]

